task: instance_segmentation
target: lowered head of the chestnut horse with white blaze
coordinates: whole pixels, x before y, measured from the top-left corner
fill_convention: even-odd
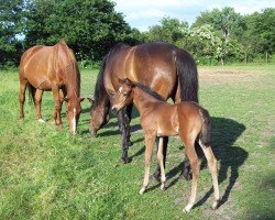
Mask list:
[[[84,100],[84,98],[78,98],[75,96],[75,97],[66,97],[64,100],[67,103],[66,114],[69,124],[69,132],[72,134],[76,134],[77,124],[81,112],[80,102]]]

